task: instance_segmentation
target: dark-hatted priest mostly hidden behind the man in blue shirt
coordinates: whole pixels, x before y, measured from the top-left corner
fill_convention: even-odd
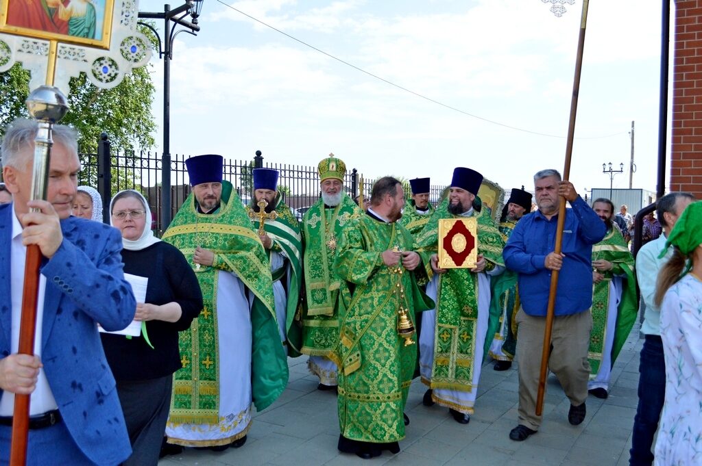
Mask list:
[[[519,219],[531,212],[531,193],[513,188],[500,217],[498,230],[506,243]],[[495,359],[493,369],[506,371],[512,366],[517,348],[517,325],[515,315],[519,310],[517,273],[505,270],[491,277],[490,320],[485,338],[486,355]],[[490,338],[492,336],[492,338]]]

